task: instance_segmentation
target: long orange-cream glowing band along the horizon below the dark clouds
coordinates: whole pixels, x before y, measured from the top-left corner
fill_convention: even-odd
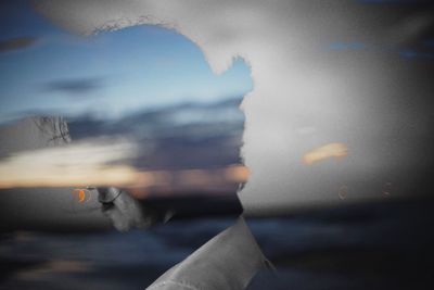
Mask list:
[[[145,197],[149,189],[166,192],[219,190],[231,184],[245,182],[248,178],[248,169],[240,164],[204,169],[138,171],[126,164],[107,164],[124,157],[124,150],[114,154],[107,147],[105,152],[100,151],[97,155],[98,146],[78,149],[82,151],[79,156],[74,154],[77,150],[71,147],[23,152],[0,162],[0,189],[75,187],[74,198],[82,203],[90,198],[88,190],[84,189],[88,185],[128,188]]]

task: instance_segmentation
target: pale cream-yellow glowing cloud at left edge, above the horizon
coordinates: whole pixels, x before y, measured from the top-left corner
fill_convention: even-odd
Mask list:
[[[22,151],[0,161],[0,188],[124,185],[136,178],[126,164],[135,146],[115,139]]]

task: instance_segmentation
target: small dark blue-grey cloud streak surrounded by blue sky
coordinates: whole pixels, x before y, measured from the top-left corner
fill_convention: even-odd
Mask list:
[[[52,92],[66,92],[73,96],[82,96],[101,88],[101,78],[77,78],[53,80],[43,86],[43,89]]]

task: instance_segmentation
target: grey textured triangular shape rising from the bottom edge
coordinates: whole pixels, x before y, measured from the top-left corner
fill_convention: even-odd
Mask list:
[[[148,289],[242,290],[264,266],[265,257],[240,217]]]

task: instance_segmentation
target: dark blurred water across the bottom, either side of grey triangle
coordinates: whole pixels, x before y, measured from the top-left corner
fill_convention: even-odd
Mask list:
[[[248,289],[434,289],[432,199],[248,219],[276,272]],[[0,289],[144,289],[230,218],[120,234],[1,235]]]

